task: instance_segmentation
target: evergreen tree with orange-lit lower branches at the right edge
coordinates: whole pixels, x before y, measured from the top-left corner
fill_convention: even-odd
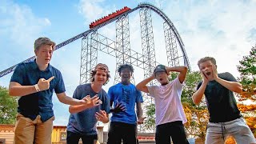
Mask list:
[[[238,109],[246,119],[250,130],[256,136],[256,106],[254,104],[246,105],[242,103],[247,99],[250,99],[252,102],[256,101],[256,46],[252,47],[249,55],[243,56],[237,68],[240,72],[239,81],[243,89],[242,93],[238,94],[238,98],[240,98]]]

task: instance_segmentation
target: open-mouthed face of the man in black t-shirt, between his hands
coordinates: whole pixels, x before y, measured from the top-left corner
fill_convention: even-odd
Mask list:
[[[206,78],[208,78],[209,80],[212,80],[214,78],[213,66],[214,66],[214,64],[210,60],[206,61],[206,62],[202,62],[199,65],[200,71],[203,74],[205,74]]]

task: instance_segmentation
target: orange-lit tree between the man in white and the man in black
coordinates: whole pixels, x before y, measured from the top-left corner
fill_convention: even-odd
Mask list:
[[[206,101],[203,99],[199,105],[194,105],[192,100],[192,95],[200,81],[202,81],[202,76],[198,71],[186,74],[186,85],[182,90],[182,106],[187,119],[184,125],[187,135],[204,139],[206,137],[206,124],[209,119]]]

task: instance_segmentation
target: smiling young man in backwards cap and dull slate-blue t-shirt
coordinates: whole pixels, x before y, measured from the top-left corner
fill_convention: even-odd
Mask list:
[[[73,98],[86,99],[87,105],[70,106],[70,119],[67,125],[67,144],[78,144],[79,139],[86,144],[96,144],[98,121],[109,122],[110,102],[102,86],[110,78],[108,67],[99,63],[91,72],[91,83],[80,85]]]

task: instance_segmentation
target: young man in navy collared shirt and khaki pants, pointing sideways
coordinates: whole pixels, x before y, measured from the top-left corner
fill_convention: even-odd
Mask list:
[[[66,96],[61,72],[50,65],[54,46],[49,38],[38,38],[34,42],[36,59],[18,64],[10,79],[9,94],[19,97],[14,143],[51,143],[54,91],[62,103],[85,103]]]

